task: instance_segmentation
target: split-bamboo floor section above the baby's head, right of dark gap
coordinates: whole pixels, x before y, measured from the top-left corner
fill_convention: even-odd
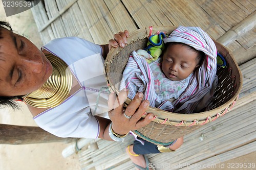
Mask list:
[[[142,1],[136,4],[130,3],[131,1],[123,2],[140,28],[155,24],[197,26],[215,39],[225,33],[194,1]]]

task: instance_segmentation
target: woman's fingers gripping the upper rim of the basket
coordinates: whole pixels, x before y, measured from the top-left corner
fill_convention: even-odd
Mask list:
[[[127,44],[127,37],[129,36],[129,31],[124,30],[123,32],[119,32],[118,34],[114,35],[114,39],[109,40],[109,50],[112,47],[116,48],[118,45],[120,47],[124,47]]]

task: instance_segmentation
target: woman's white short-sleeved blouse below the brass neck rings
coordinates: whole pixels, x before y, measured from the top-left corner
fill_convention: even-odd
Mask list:
[[[59,106],[33,117],[36,124],[59,137],[97,138],[99,122],[93,115],[108,117],[108,92],[100,93],[95,111],[99,90],[106,87],[101,46],[66,37],[54,39],[42,48],[69,65],[81,88]]]

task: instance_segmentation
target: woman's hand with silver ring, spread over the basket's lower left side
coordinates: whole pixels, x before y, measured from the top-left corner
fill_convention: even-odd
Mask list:
[[[109,96],[109,117],[112,120],[112,129],[119,135],[127,134],[131,130],[136,130],[144,127],[153,119],[153,114],[148,113],[144,119],[140,119],[149,106],[147,100],[142,102],[143,94],[137,93],[133,101],[123,109],[123,103],[127,98],[127,89],[123,89],[118,94],[118,97],[114,93]],[[131,116],[131,118],[125,117]]]

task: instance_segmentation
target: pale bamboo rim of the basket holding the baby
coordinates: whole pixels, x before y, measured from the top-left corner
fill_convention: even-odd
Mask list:
[[[152,26],[152,28],[153,28],[152,32],[156,33],[157,31],[163,31],[163,30],[165,30],[166,32],[172,32],[177,27],[175,27],[175,26]],[[130,33],[129,37],[127,37],[127,42],[128,42],[127,44],[129,45],[138,40],[147,38],[150,33],[151,33],[150,28],[144,28],[144,29],[139,29],[139,30],[133,31]],[[146,112],[153,113],[155,116],[157,116],[153,120],[154,122],[159,123],[159,124],[164,124],[164,125],[171,125],[171,126],[204,125],[204,124],[207,124],[209,122],[216,120],[218,117],[223,116],[236,103],[236,101],[238,100],[238,95],[242,89],[242,72],[238,66],[238,63],[236,62],[236,60],[234,59],[233,55],[230,53],[228,48],[225,47],[224,45],[222,45],[220,42],[216,41],[215,39],[213,39],[213,40],[214,40],[214,42],[217,42],[219,45],[223,46],[225,48],[225,50],[227,50],[227,52],[229,53],[229,55],[231,57],[230,60],[232,60],[232,62],[233,62],[233,67],[236,67],[237,71],[239,72],[239,77],[237,77],[239,79],[239,84],[237,84],[237,88],[235,90],[236,93],[225,104],[223,104],[215,109],[209,110],[209,111],[186,114],[186,116],[185,116],[186,119],[184,119],[183,113],[168,112],[168,111],[164,111],[164,110],[161,110],[158,108],[148,107]],[[109,84],[110,89],[116,93],[118,93],[119,91],[117,89],[115,89],[113,84],[109,81],[108,70],[110,67],[109,63],[111,62],[112,56],[116,56],[122,49],[123,48],[121,48],[121,47],[112,48],[111,51],[109,52],[108,56],[106,57],[106,60],[104,63],[104,67],[105,67],[104,74],[105,74],[106,82],[107,82],[107,84]],[[126,106],[129,105],[131,101],[132,101],[131,99],[127,99],[125,102],[125,105]],[[161,115],[159,113],[161,113]],[[142,116],[142,117],[144,117],[144,116]]]

